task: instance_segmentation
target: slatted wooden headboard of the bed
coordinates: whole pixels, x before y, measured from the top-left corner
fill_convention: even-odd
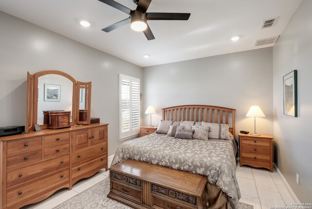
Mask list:
[[[235,109],[209,105],[180,105],[162,109],[163,120],[229,124],[235,137]]]

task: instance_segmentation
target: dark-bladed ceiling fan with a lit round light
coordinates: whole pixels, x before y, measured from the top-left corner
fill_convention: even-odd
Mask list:
[[[131,28],[135,31],[143,31],[148,40],[153,40],[155,37],[147,24],[147,20],[188,20],[191,15],[190,13],[146,12],[152,0],[133,0],[133,2],[137,4],[136,10],[131,10],[114,0],[99,1],[130,15],[129,18],[103,28],[102,31],[108,33],[123,25],[131,23]]]

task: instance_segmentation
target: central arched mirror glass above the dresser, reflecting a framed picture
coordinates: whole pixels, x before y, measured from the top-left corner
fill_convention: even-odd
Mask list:
[[[55,111],[70,111],[73,121],[73,81],[55,74],[40,76],[36,124],[49,124],[49,113]]]

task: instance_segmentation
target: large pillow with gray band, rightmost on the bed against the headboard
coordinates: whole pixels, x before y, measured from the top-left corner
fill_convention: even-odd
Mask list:
[[[208,133],[209,138],[227,139],[227,140],[231,139],[230,132],[229,132],[230,125],[228,124],[207,123],[207,122],[201,121],[201,125],[210,127],[210,131]]]

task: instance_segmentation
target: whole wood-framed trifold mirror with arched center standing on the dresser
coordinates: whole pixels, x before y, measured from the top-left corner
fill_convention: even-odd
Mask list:
[[[36,124],[41,129],[90,124],[91,82],[82,83],[81,88],[77,87],[78,83],[82,82],[56,70],[41,71],[34,75],[27,73],[26,133],[33,130]],[[80,93],[83,96],[79,96]],[[77,100],[76,95],[79,97]],[[85,111],[82,122],[76,116],[79,110]],[[56,118],[57,124],[51,118]]]

